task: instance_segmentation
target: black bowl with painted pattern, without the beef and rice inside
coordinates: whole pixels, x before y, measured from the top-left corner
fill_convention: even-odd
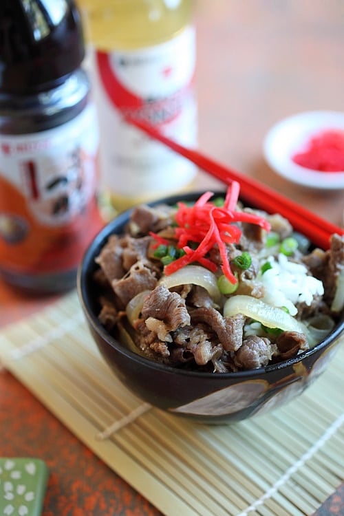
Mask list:
[[[200,193],[169,197],[168,202],[193,201]],[[152,204],[157,204],[152,203]],[[299,396],[327,367],[344,341],[344,320],[311,350],[275,365],[236,373],[205,373],[175,369],[144,358],[122,345],[98,321],[94,297],[95,257],[109,235],[122,233],[129,211],[98,233],[78,270],[78,296],[89,330],[107,364],[123,385],[151,405],[203,422],[234,422],[280,407]]]

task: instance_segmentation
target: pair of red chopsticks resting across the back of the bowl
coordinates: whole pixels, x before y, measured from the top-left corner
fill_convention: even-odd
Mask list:
[[[319,215],[312,213],[312,211],[288,199],[288,197],[284,197],[281,193],[270,189],[265,184],[230,169],[228,166],[208,158],[199,151],[182,146],[178,142],[164,136],[155,127],[141,120],[133,118],[126,118],[126,120],[129,124],[138,127],[138,129],[151,136],[151,138],[162,142],[225,184],[230,185],[233,181],[238,181],[240,183],[240,195],[248,204],[252,204],[252,207],[259,208],[268,213],[283,215],[283,217],[289,220],[295,230],[308,237],[316,246],[328,249],[332,234],[344,235],[343,228],[319,217]]]

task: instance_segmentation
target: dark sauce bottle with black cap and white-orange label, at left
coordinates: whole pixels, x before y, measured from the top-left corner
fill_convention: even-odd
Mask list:
[[[71,0],[0,2],[0,275],[75,286],[98,211],[98,128]]]

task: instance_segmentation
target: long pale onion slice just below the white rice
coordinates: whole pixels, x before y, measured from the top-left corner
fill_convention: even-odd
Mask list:
[[[236,314],[244,314],[246,317],[255,319],[270,328],[280,328],[285,332],[303,333],[307,338],[310,336],[303,323],[294,319],[281,308],[268,305],[256,297],[238,294],[228,298],[224,303],[224,316],[230,317]]]

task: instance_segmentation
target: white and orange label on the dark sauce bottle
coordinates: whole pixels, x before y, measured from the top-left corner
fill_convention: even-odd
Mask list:
[[[94,105],[64,125],[0,136],[0,266],[73,268],[96,217],[98,129]]]

